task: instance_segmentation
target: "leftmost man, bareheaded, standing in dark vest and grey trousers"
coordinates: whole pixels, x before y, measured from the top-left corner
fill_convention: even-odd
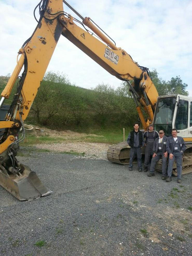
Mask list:
[[[129,171],[133,170],[133,159],[137,155],[138,170],[142,172],[141,147],[144,146],[145,140],[142,131],[139,130],[139,124],[134,124],[134,130],[129,132],[127,143],[131,147]]]

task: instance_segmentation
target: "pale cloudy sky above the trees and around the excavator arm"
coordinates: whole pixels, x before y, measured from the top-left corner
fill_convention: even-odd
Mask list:
[[[68,2],[82,16],[91,17],[139,65],[156,69],[166,81],[180,75],[192,97],[191,0]],[[38,3],[0,0],[0,75],[12,73],[15,68],[18,50],[37,25],[33,10]],[[64,11],[77,17],[65,4]],[[72,84],[87,89],[101,83],[117,88],[122,82],[62,35],[47,71],[63,72]]]

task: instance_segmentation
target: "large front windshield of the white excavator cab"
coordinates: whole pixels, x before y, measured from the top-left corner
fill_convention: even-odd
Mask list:
[[[157,101],[154,128],[156,131],[164,130],[166,136],[171,136],[175,103],[176,97],[160,98]]]

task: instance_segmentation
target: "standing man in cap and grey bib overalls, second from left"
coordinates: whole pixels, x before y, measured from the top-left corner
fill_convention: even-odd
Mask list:
[[[153,130],[153,124],[149,125],[149,131],[145,131],[143,134],[145,138],[145,162],[144,162],[144,172],[150,170],[150,156],[153,156],[153,144],[156,138],[159,137],[157,131]]]

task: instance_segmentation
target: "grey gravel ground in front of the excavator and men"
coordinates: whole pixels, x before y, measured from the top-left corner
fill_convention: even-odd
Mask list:
[[[136,164],[129,172],[88,158],[18,157],[53,193],[20,202],[0,187],[1,255],[192,255],[192,173],[182,184],[176,177],[166,183],[159,173],[139,173]]]

